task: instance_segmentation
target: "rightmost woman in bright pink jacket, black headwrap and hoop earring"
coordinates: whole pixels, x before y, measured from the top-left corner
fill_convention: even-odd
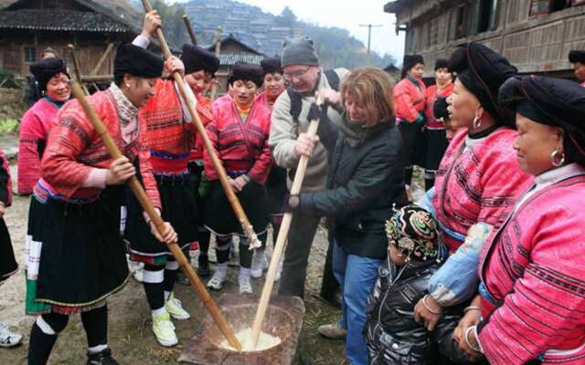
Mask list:
[[[460,325],[460,346],[496,365],[581,363],[585,89],[563,79],[511,78],[499,101],[516,110],[514,148],[535,184],[486,244],[482,318]]]

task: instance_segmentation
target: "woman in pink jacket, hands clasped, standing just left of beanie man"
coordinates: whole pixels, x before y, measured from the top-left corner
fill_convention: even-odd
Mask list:
[[[238,193],[239,202],[250,218],[254,232],[261,241],[265,241],[268,214],[262,202],[272,157],[268,147],[271,110],[255,101],[256,91],[262,86],[262,76],[260,66],[243,62],[234,65],[229,76],[232,96],[228,94],[214,102],[214,120],[207,126],[207,134],[229,175],[229,183]],[[218,256],[218,268],[207,287],[223,287],[228,277],[232,236],[239,235],[239,294],[251,294],[252,251],[239,219],[229,207],[207,150],[204,151],[204,162],[207,180],[213,183],[206,202],[205,222],[207,229],[216,235]]]

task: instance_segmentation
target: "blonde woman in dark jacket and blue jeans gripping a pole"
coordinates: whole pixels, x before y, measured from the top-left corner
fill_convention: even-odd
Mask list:
[[[310,156],[323,142],[330,153],[329,181],[321,192],[291,196],[286,211],[326,215],[334,240],[333,271],[342,287],[343,317],[324,334],[346,333],[346,355],[352,364],[367,364],[362,335],[367,296],[386,258],[384,224],[394,203],[405,203],[404,152],[394,120],[392,82],[378,68],[357,68],[342,80],[341,92],[321,96],[345,110],[336,125],[322,118],[318,136],[303,150]],[[331,336],[333,337],[333,336]]]

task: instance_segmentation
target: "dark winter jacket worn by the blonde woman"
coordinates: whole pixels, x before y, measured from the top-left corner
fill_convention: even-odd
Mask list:
[[[300,209],[326,216],[329,234],[347,254],[384,258],[392,204],[406,202],[400,133],[394,120],[372,128],[344,120],[319,123],[330,156],[327,188],[302,193]]]

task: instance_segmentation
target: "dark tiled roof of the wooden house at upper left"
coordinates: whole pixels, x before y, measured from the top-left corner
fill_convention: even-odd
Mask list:
[[[100,13],[62,9],[0,11],[0,28],[125,33],[128,26]]]

